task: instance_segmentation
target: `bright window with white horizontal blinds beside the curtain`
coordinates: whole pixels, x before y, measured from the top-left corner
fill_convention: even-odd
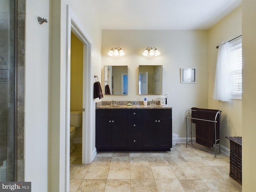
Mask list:
[[[242,36],[229,42],[231,68],[231,99],[242,99]]]

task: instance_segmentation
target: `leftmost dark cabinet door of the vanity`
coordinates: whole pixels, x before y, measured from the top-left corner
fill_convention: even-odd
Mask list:
[[[109,122],[110,121],[110,122]],[[96,118],[96,148],[98,150],[111,149],[112,140],[112,122],[110,118]]]

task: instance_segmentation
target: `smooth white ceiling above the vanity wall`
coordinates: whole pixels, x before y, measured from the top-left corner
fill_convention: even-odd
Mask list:
[[[102,29],[208,30],[242,0],[90,0]]]

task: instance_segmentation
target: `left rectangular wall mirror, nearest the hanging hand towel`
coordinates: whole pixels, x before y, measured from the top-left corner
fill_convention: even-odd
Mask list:
[[[128,94],[128,66],[104,66],[104,93]]]

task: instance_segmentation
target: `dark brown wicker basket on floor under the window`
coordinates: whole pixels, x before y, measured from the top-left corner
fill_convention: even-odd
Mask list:
[[[242,137],[226,137],[230,140],[229,175],[242,185]]]

